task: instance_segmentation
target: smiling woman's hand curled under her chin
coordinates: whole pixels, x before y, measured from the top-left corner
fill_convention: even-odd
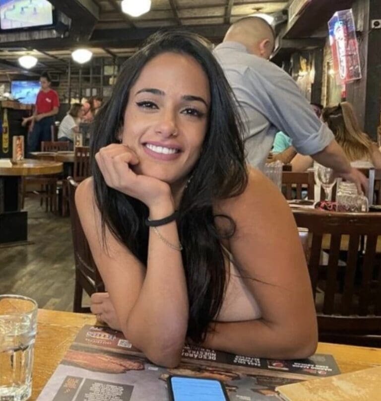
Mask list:
[[[172,202],[169,185],[156,178],[136,174],[131,166],[139,163],[136,153],[128,146],[112,143],[102,147],[95,155],[106,184],[126,195],[138,199],[149,208],[165,201]]]

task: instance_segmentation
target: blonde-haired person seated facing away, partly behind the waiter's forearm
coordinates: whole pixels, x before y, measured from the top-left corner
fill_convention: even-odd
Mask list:
[[[353,106],[341,102],[337,106],[326,107],[322,119],[335,135],[353,167],[381,168],[381,152],[377,144],[360,129]],[[305,171],[313,166],[310,156],[298,154],[291,161],[293,171]]]

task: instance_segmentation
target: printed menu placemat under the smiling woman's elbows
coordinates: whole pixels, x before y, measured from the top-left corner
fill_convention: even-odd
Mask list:
[[[286,361],[190,345],[181,364],[167,369],[151,363],[122,333],[84,326],[37,401],[166,401],[169,375],[218,379],[230,400],[280,400],[278,386],[339,373],[331,355]]]

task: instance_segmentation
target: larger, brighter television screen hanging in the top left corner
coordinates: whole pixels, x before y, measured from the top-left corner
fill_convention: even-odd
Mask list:
[[[0,28],[19,29],[53,24],[47,0],[0,0]]]

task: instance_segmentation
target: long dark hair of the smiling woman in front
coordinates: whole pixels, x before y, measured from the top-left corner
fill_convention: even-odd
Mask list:
[[[186,54],[195,59],[208,76],[211,95],[207,133],[200,158],[191,172],[192,179],[184,191],[178,219],[190,305],[188,336],[200,342],[220,310],[225,290],[226,267],[220,240],[222,236],[232,235],[235,229],[234,221],[223,216],[231,223],[230,233],[217,230],[212,204],[241,194],[248,179],[242,123],[230,86],[206,40],[179,31],[156,33],[150,37],[146,45],[124,64],[110,100],[96,115],[91,151],[95,155],[101,147],[117,142],[131,86],[147,62],[167,52]],[[107,187],[95,159],[92,160],[96,201],[103,227],[106,224],[146,266],[148,229],[144,219],[148,216],[147,206]]]

